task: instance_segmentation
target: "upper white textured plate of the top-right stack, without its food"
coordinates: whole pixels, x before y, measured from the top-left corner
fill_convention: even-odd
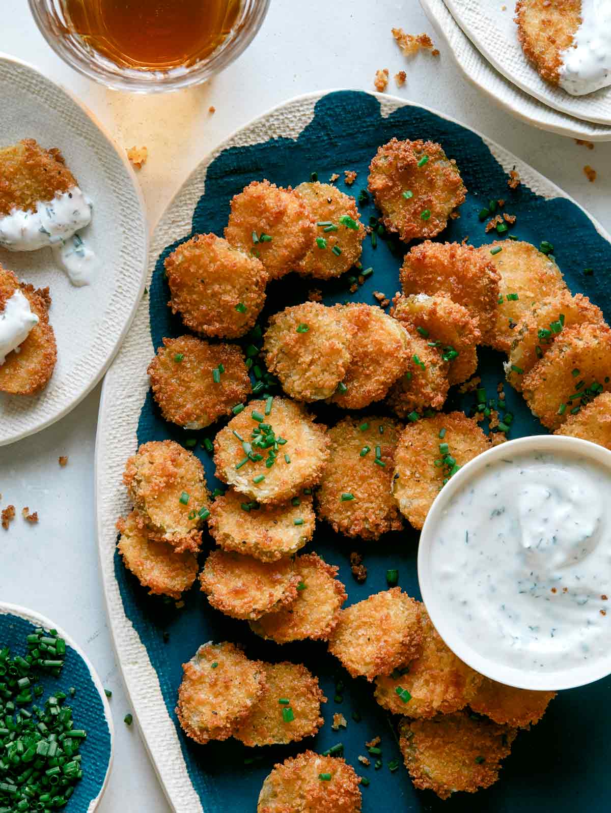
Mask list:
[[[444,0],[456,22],[486,59],[518,88],[578,119],[611,124],[611,86],[571,96],[544,81],[526,59],[514,23],[515,0]],[[503,7],[505,11],[502,11]]]

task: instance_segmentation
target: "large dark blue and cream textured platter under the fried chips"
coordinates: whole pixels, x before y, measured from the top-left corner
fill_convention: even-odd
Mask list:
[[[193,233],[222,233],[229,214],[229,200],[251,180],[267,177],[281,185],[308,180],[316,171],[321,180],[340,174],[338,186],[358,196],[367,182],[369,161],[378,146],[392,136],[428,137],[439,141],[448,156],[456,158],[465,185],[467,200],[460,219],[441,235],[460,241],[467,234],[475,245],[487,242],[478,211],[490,198],[505,198],[505,211],[517,215],[515,233],[539,245],[541,239],[556,245],[556,258],[571,289],[583,290],[611,315],[611,293],[604,269],[611,264],[611,245],[578,205],[539,176],[519,159],[477,133],[439,114],[415,107],[386,95],[358,91],[318,93],[297,98],[270,111],[239,130],[216,152],[204,159],[174,198],[159,221],[149,267],[149,297],[138,308],[133,327],[107,373],[103,388],[96,448],[96,500],[98,544],[112,634],[133,709],[146,746],[174,810],[179,813],[242,813],[255,811],[264,777],[274,763],[311,747],[322,751],[342,741],[346,759],[371,780],[363,788],[363,811],[471,811],[471,813],[540,813],[541,810],[602,811],[608,798],[607,763],[611,748],[606,737],[611,708],[605,702],[611,680],[587,689],[563,693],[550,707],[543,721],[531,733],[521,733],[513,753],[505,761],[500,781],[491,789],[472,795],[457,794],[440,802],[430,792],[417,792],[403,767],[391,773],[387,767],[399,758],[395,741],[396,720],[373,701],[373,689],[363,679],[351,680],[343,667],[315,641],[278,647],[251,633],[245,622],[235,621],[213,611],[197,585],[185,594],[185,606],[176,609],[146,593],[126,572],[116,554],[115,523],[129,511],[121,476],[125,460],[144,441],[172,438],[185,440],[185,433],[161,420],[149,391],[146,367],[164,336],[184,333],[179,320],[167,307],[168,289],[164,280],[164,258]],[[517,167],[523,184],[508,189],[506,172]],[[347,187],[343,171],[358,172],[356,182]],[[360,207],[365,223],[377,212],[373,205]],[[321,284],[287,276],[268,288],[268,304],[261,324],[270,313],[303,301],[312,288],[323,289],[324,302],[358,301],[375,303],[373,291],[395,293],[398,270],[405,246],[378,241],[374,250],[364,242],[364,266],[373,266],[373,276],[351,294],[344,280]],[[593,267],[593,276],[583,276],[583,268]],[[489,392],[495,392],[502,378],[502,356],[479,350],[480,374]],[[474,393],[451,395],[447,408],[469,410]],[[515,415],[512,437],[543,433],[539,422],[517,393],[507,388],[508,408]],[[380,411],[379,407],[376,411]],[[325,423],[338,420],[340,413],[321,409]],[[367,411],[364,411],[364,415]],[[214,437],[219,426],[199,434]],[[218,482],[212,462],[197,446],[196,453],[206,467],[208,485]],[[205,539],[203,557],[213,546]],[[347,586],[347,604],[386,589],[386,569],[399,568],[399,585],[410,595],[420,597],[417,585],[417,533],[391,533],[375,544],[347,540],[319,524],[313,544],[328,562],[340,567]],[[351,576],[349,554],[360,550],[368,568],[368,578],[357,585]],[[203,561],[203,559],[202,559]],[[164,633],[169,633],[164,642]],[[181,681],[181,663],[205,641],[242,641],[247,654],[266,660],[292,660],[316,674],[330,702],[322,707],[325,725],[316,737],[293,746],[273,746],[254,754],[238,741],[213,742],[199,746],[183,735],[177,725],[174,707]],[[334,702],[334,684],[346,684],[343,702]],[[351,720],[358,710],[360,723]],[[342,711],[348,720],[346,731],[330,728],[334,712]],[[559,736],[561,731],[562,736]],[[357,762],[364,742],[382,737],[384,767],[375,772]],[[567,741],[578,747],[566,747]],[[255,762],[244,760],[257,756]],[[384,799],[386,801],[381,802]]]

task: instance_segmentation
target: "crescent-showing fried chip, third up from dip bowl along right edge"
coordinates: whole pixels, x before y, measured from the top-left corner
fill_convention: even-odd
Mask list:
[[[587,297],[581,293],[573,296],[569,289],[537,302],[515,330],[504,364],[509,384],[522,392],[523,376],[548,352],[562,329],[574,324],[604,324],[604,316]]]

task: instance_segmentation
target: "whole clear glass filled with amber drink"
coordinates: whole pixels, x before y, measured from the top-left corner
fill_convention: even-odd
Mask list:
[[[64,62],[111,88],[195,85],[250,44],[269,0],[28,0]]]

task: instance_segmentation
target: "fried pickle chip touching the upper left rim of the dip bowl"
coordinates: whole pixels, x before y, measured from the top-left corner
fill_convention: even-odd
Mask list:
[[[443,439],[439,432],[445,429]],[[473,418],[463,412],[449,412],[422,418],[405,427],[395,451],[393,493],[399,511],[420,530],[434,498],[447,477],[445,467],[435,466],[443,458],[439,444],[447,443],[458,466],[491,448],[491,442]]]

